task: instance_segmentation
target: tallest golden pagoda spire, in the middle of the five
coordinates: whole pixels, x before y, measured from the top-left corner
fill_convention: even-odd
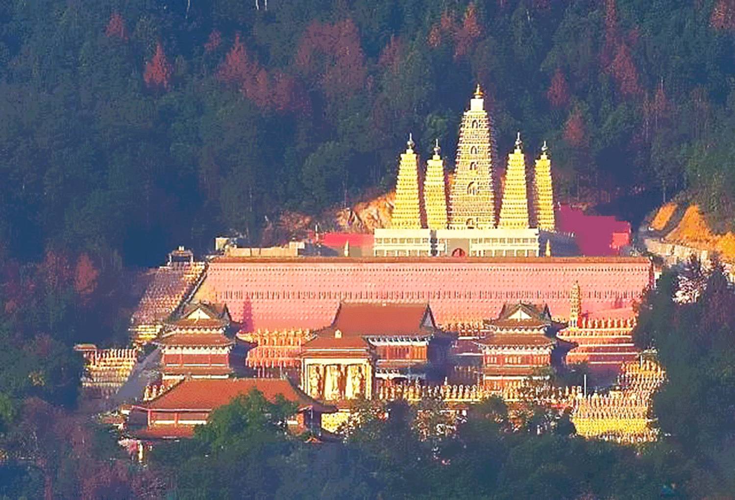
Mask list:
[[[450,229],[495,227],[493,128],[478,85],[473,99],[470,99],[470,109],[462,115],[459,126],[454,177],[449,193]]]

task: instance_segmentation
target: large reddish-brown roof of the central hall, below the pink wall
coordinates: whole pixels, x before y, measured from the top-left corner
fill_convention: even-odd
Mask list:
[[[424,326],[426,323],[431,326]],[[434,333],[426,302],[343,302],[328,330],[343,335],[416,335]]]

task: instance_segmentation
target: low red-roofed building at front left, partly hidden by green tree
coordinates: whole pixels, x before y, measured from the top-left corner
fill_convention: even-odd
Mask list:
[[[229,404],[237,396],[259,390],[268,401],[281,395],[298,404],[289,428],[293,432],[321,431],[321,415],[336,411],[306,396],[287,379],[193,379],[187,377],[157,397],[135,405],[129,416],[128,432],[140,440],[192,437],[194,427],[207,424],[213,410]],[[134,415],[135,414],[135,415]],[[141,416],[144,417],[141,419]],[[139,428],[132,428],[136,418]]]

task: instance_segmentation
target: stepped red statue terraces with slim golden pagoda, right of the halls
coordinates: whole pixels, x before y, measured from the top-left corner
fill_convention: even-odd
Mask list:
[[[633,343],[636,316],[632,307],[582,312],[581,290],[575,283],[570,293],[569,324],[556,337],[574,344],[567,363],[587,363],[599,379],[614,378],[625,362],[636,360]]]

